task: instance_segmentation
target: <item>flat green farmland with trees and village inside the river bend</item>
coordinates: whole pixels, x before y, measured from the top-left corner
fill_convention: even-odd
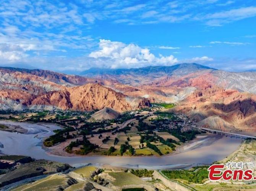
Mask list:
[[[61,130],[55,130],[55,135],[44,140],[47,152],[59,156],[167,155],[200,133],[192,128],[195,124],[188,117],[160,112],[154,108],[126,112],[120,118],[112,120],[95,120],[90,117],[91,114],[92,112],[25,111],[2,114],[0,118],[61,125]],[[0,125],[0,130],[28,133],[27,129],[18,125],[4,123]]]

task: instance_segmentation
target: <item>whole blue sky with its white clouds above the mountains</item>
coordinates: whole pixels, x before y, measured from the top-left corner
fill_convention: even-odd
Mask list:
[[[2,0],[0,64],[256,69],[255,0]]]

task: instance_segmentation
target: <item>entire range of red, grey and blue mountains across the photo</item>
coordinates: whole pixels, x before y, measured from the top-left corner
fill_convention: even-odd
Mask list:
[[[227,72],[200,64],[137,69],[92,68],[81,75],[0,67],[1,109],[111,108],[128,111],[175,103],[202,126],[256,128],[256,72]]]

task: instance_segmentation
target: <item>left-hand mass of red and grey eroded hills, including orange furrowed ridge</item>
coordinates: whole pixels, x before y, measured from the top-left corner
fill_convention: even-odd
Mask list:
[[[104,86],[113,87],[113,83],[51,71],[2,67],[0,108],[92,111],[109,107],[127,111],[149,106],[145,98],[129,97]]]

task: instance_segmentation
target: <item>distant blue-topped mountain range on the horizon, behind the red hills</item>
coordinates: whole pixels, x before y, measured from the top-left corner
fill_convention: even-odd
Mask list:
[[[149,66],[133,69],[99,69],[92,68],[81,75],[101,80],[116,80],[120,83],[139,85],[174,85],[196,83],[202,79],[228,89],[256,93],[255,71],[227,72],[200,64],[177,64],[174,66]],[[212,81],[213,80],[213,81]],[[152,82],[152,83],[151,83]],[[191,84],[194,86],[195,84]]]

